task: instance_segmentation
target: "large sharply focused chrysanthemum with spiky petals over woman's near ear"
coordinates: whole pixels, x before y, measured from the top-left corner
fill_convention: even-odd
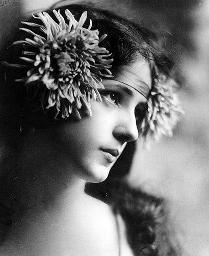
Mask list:
[[[17,81],[25,83],[32,98],[39,98],[40,108],[54,107],[55,117],[62,111],[63,118],[71,113],[81,118],[79,110],[82,105],[91,115],[90,102],[101,100],[98,93],[98,89],[103,88],[101,76],[111,77],[109,68],[113,59],[105,59],[111,54],[98,46],[107,35],[99,38],[98,30],[91,30],[91,20],[88,28],[83,27],[87,12],[77,22],[71,12],[65,10],[68,24],[60,11],[53,12],[58,23],[46,12],[34,15],[43,25],[22,22],[41,31],[37,34],[20,28],[31,34],[33,39],[25,38],[13,43],[23,45],[25,56],[20,59],[27,65],[4,64],[28,70],[27,76]]]

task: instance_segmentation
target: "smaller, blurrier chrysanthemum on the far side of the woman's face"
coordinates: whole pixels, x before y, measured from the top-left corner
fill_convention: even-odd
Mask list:
[[[154,83],[147,101],[147,111],[141,123],[142,135],[158,140],[161,135],[172,136],[173,128],[183,114],[177,94],[177,84],[172,78],[160,74]]]

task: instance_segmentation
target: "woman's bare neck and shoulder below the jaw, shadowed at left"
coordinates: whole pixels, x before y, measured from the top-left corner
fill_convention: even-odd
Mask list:
[[[13,181],[21,207],[0,255],[118,255],[110,207],[85,194],[86,182],[50,138],[25,139]]]

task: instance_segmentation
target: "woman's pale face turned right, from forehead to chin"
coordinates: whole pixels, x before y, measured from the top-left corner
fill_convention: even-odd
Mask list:
[[[65,159],[73,163],[77,176],[89,182],[105,180],[126,143],[137,140],[136,112],[146,102],[138,90],[144,84],[151,87],[149,65],[139,61],[124,66],[119,79],[116,76],[102,83],[102,102],[92,102],[92,117],[67,120],[59,131]]]

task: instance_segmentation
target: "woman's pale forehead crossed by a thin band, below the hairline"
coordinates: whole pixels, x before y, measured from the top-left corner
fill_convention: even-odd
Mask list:
[[[140,60],[131,65],[122,65],[112,68],[112,80],[116,80],[134,88],[145,98],[151,89],[151,70],[149,63]]]

